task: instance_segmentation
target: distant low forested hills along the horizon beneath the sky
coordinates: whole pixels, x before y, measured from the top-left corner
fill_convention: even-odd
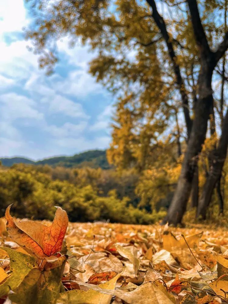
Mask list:
[[[43,159],[42,161],[31,161],[24,157],[13,157],[13,158],[0,158],[0,161],[4,166],[10,167],[13,164],[36,164],[36,165],[49,165],[49,166],[63,166],[67,168],[81,168],[91,167],[102,169],[109,169],[110,165],[106,159],[105,150],[90,150],[75,154],[74,156],[57,156]]]

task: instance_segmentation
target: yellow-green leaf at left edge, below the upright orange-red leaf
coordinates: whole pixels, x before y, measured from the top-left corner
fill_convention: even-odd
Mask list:
[[[0,285],[0,298],[7,295],[10,289],[16,288],[23,281],[26,275],[37,268],[37,259],[35,257],[17,252],[8,247],[2,247],[10,257],[10,275]]]

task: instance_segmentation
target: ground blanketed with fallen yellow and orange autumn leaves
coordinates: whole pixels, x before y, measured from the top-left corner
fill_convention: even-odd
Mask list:
[[[228,303],[224,229],[69,223],[62,243],[61,217],[14,221],[0,222],[0,303]]]

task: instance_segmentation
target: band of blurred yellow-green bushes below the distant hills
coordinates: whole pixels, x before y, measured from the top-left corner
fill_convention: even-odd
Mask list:
[[[56,169],[58,174],[55,172]],[[135,201],[131,202],[126,196],[127,193],[134,191],[133,172],[126,173],[122,178],[119,177],[118,183],[122,188],[118,189],[116,185],[119,175],[115,171],[109,172],[107,176],[108,171],[101,169],[71,169],[69,179],[74,177],[71,182],[56,179],[58,175],[63,177],[64,171],[69,173],[69,170],[23,164],[2,170],[1,216],[4,215],[9,204],[13,204],[12,212],[14,211],[15,216],[33,219],[52,219],[54,206],[66,210],[69,220],[73,222],[110,220],[120,223],[150,224],[164,216],[164,212],[150,214],[145,209],[133,207],[132,204],[136,202],[135,197]],[[52,178],[53,174],[55,179]],[[106,180],[102,191],[104,176]],[[108,182],[109,178],[112,181]]]

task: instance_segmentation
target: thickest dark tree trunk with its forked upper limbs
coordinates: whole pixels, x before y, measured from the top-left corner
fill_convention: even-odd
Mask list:
[[[201,70],[197,81],[199,97],[196,105],[195,118],[192,124],[192,131],[182,164],[181,175],[167,217],[163,221],[163,223],[168,221],[169,224],[174,224],[175,226],[178,223],[181,223],[186,210],[197,164],[197,157],[206,138],[207,123],[213,106],[211,87],[212,73],[216,63],[223,56],[228,47],[228,33],[226,33],[216,52],[210,50],[200,20],[197,2],[196,0],[187,0],[187,3],[192,19],[195,40],[200,52]]]

